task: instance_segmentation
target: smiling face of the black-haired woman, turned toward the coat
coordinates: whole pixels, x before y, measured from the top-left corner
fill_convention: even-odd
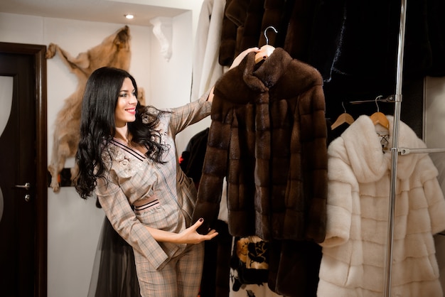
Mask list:
[[[126,77],[122,83],[119,97],[117,97],[116,109],[114,110],[114,122],[117,128],[136,120],[136,104],[137,98],[132,80]]]

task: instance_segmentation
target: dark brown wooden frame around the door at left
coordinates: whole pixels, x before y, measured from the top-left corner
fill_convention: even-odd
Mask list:
[[[0,53],[31,55],[36,77],[36,275],[34,297],[46,297],[48,286],[48,140],[46,46],[0,42]]]

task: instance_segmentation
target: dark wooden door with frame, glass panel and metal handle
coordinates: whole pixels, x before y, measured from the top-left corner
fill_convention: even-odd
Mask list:
[[[0,296],[46,296],[44,45],[0,43]]]

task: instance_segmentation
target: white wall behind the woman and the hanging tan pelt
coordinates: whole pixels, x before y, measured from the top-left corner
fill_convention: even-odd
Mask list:
[[[198,7],[199,9],[199,7]],[[132,62],[129,72],[146,91],[146,104],[176,107],[190,101],[193,53],[192,11],[173,18],[173,54],[167,62],[151,27],[132,26]],[[0,13],[0,41],[48,45],[57,43],[73,56],[85,52],[124,26]],[[56,114],[64,99],[75,91],[77,78],[56,55],[48,66],[48,162]],[[178,151],[200,128],[178,136]],[[73,166],[70,158],[65,167]],[[97,239],[104,218],[95,200],[82,200],[74,188],[53,193],[48,188],[48,297],[87,296]]]

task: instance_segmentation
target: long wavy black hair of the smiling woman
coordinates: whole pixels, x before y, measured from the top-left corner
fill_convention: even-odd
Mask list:
[[[127,77],[132,80],[137,97],[136,80],[125,70],[99,68],[92,72],[87,80],[82,99],[80,141],[75,156],[79,167],[75,188],[84,199],[91,196],[97,178],[104,176],[106,168],[102,161],[102,150],[107,148],[116,133],[114,110],[122,84]],[[159,141],[161,135],[156,130],[159,117],[163,113],[154,107],[142,107],[138,102],[136,120],[127,124],[132,134],[132,144],[145,146],[148,149],[146,156],[157,163],[163,163],[162,153],[168,150],[168,147]]]

